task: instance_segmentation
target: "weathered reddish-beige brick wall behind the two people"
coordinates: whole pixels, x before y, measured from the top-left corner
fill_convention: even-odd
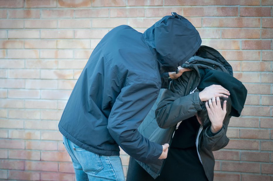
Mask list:
[[[100,39],[175,11],[248,89],[215,180],[273,180],[272,0],[0,0],[0,179],[74,180],[57,124]],[[121,152],[126,174],[129,157]]]

